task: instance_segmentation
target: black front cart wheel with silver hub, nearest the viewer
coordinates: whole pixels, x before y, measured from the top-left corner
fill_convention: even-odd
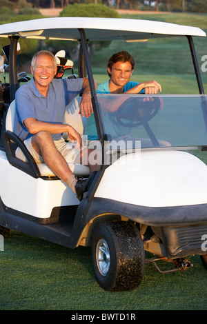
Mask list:
[[[132,290],[140,285],[145,252],[137,227],[121,221],[101,224],[92,239],[92,265],[104,290]]]

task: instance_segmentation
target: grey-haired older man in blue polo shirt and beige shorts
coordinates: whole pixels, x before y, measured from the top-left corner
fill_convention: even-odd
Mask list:
[[[72,126],[64,124],[63,118],[66,105],[81,91],[81,114],[87,115],[92,110],[90,88],[88,79],[54,79],[56,68],[56,60],[51,52],[34,54],[31,63],[33,79],[16,93],[18,123],[15,132],[24,141],[34,160],[37,163],[44,161],[81,200],[87,180],[77,180],[68,167],[66,156],[74,161],[75,150],[68,146],[61,134],[67,132],[70,139],[76,141],[76,148],[81,148],[80,135]],[[81,150],[79,154],[77,159],[81,161],[83,154],[88,154],[88,149]],[[19,148],[16,156],[25,159]],[[89,162],[88,166],[90,172],[97,168]]]

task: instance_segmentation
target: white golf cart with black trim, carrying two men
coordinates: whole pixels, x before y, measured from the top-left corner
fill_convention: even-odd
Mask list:
[[[184,271],[196,254],[207,267],[207,168],[193,154],[207,148],[207,102],[193,43],[205,32],[158,21],[67,17],[8,23],[0,26],[0,37],[10,42],[9,98],[1,96],[1,234],[11,229],[70,248],[91,247],[95,278],[109,291],[140,285],[149,262],[159,272]],[[96,93],[88,41],[163,37],[188,39],[199,94]],[[14,133],[21,38],[80,43],[78,77],[90,82],[97,139],[87,137],[81,97],[66,107],[65,122],[85,145],[102,152],[101,169],[81,201],[45,163],[34,162]],[[15,156],[17,147],[26,162]],[[76,176],[88,178],[84,163],[68,165]],[[154,257],[146,259],[146,252]],[[162,271],[160,260],[173,268]]]

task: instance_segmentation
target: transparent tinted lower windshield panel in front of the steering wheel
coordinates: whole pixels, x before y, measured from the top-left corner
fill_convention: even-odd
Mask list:
[[[141,148],[207,145],[206,95],[97,94],[109,140]]]

